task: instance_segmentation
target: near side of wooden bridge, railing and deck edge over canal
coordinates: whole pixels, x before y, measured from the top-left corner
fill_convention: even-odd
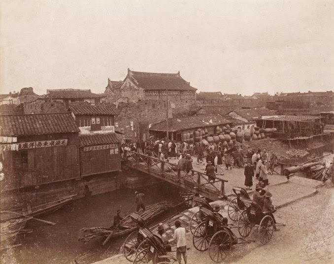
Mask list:
[[[178,171],[176,164],[133,151],[125,151],[123,157],[127,166],[167,181],[179,188],[192,191],[211,200],[226,198],[225,182],[228,180],[222,177],[216,176],[216,182],[221,183],[220,188],[217,188],[205,174],[194,169],[188,173],[184,170]]]

